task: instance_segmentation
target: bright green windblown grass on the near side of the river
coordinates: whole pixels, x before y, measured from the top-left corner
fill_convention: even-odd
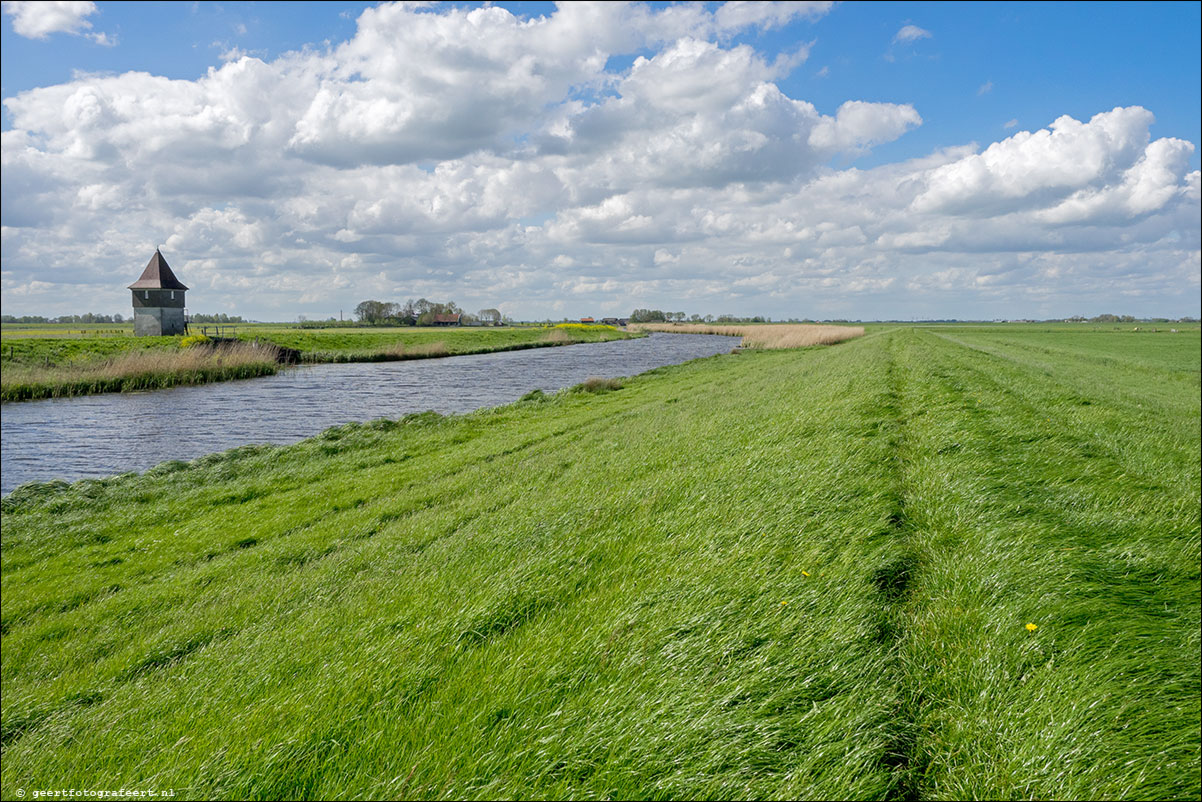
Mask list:
[[[26,486],[0,792],[1196,798],[1197,355],[880,331]]]

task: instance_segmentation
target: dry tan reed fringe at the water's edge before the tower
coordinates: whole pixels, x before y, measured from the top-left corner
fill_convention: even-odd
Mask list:
[[[126,351],[107,360],[49,367],[8,363],[0,378],[0,399],[31,400],[251,379],[275,373],[278,358],[279,349],[274,345],[234,343],[220,347]]]

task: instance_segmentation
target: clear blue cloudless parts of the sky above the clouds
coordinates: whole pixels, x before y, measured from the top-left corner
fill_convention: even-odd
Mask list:
[[[345,41],[370,5],[100,2],[93,26],[111,32],[115,47],[78,36],[29,40],[5,25],[2,90],[8,96],[63,83],[76,71],[197,78],[233,47],[270,59]],[[496,5],[525,16],[555,7]],[[893,43],[906,24],[930,37]],[[813,41],[808,63],[778,83],[820,111],[831,112],[847,97],[914,103],[926,120],[922,129],[857,161],[864,166],[992,142],[1008,132],[1010,120],[1037,127],[1060,114],[1081,119],[1131,105],[1155,113],[1158,136],[1198,142],[1200,29],[1197,2],[852,2],[835,6],[817,25],[797,20],[732,41],[751,42],[770,55]],[[627,55],[615,64],[632,60]],[[1195,152],[1195,168],[1198,160]]]

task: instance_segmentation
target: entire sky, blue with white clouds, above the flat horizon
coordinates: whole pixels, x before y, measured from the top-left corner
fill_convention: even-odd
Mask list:
[[[588,22],[542,2],[89,5],[47,19],[5,2],[6,311],[54,314],[47,277],[117,310],[112,279],[168,244],[212,299],[197,311],[263,317],[381,295],[529,317],[1198,310],[1202,4],[633,4]],[[523,28],[538,17],[559,32]],[[523,57],[531,75],[498,78]],[[270,111],[232,102],[239,87]],[[85,95],[105,111],[60,113]],[[114,133],[168,106],[175,138],[154,153]],[[1095,119],[1112,109],[1146,111]],[[1052,131],[1065,115],[1084,127]],[[212,139],[188,153],[197,126]],[[688,174],[688,149],[710,145]],[[202,150],[264,178],[168,174],[165,154]],[[142,178],[121,174],[135,165]],[[117,202],[133,196],[156,202]],[[326,216],[298,212],[305,197]],[[251,266],[272,285],[254,303],[237,291]]]

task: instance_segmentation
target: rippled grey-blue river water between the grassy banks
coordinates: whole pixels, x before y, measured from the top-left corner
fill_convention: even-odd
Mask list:
[[[0,493],[35,480],[141,471],[248,442],[296,442],[350,421],[430,409],[470,412],[536,388],[554,392],[589,376],[632,376],[725,354],[737,343],[651,334],[442,360],[307,366],[244,381],[5,404]]]

